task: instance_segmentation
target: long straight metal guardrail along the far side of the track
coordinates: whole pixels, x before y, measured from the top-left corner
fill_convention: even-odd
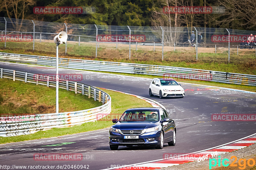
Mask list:
[[[52,67],[55,67],[56,65],[56,58],[54,57],[13,53],[0,53],[0,61],[14,61],[18,63],[29,63]],[[256,75],[227,73],[193,68],[67,58],[59,58],[59,67],[81,70],[108,71],[117,73],[147,74],[167,78],[171,77],[174,79],[181,78],[206,80],[222,83],[256,86]]]

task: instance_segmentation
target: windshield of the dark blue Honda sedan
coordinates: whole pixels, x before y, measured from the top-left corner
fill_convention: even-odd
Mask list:
[[[138,111],[126,111],[120,117],[120,122],[127,121],[158,121],[158,111],[150,110],[138,110]]]

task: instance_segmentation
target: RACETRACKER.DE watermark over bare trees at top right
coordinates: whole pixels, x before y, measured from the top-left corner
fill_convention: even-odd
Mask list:
[[[165,14],[223,14],[224,6],[164,6]]]

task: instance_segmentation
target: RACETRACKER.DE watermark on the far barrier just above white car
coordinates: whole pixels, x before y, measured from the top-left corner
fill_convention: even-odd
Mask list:
[[[184,80],[184,79],[192,79],[192,80],[202,80],[202,81],[211,81],[212,74],[198,73],[198,74],[175,74],[175,73],[165,73],[163,74],[164,80]]]

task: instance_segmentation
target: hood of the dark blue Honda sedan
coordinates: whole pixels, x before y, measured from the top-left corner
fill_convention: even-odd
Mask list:
[[[158,126],[160,122],[150,122],[150,121],[141,121],[141,122],[117,122],[112,125],[113,128],[121,130],[144,130],[146,128],[151,128]]]

